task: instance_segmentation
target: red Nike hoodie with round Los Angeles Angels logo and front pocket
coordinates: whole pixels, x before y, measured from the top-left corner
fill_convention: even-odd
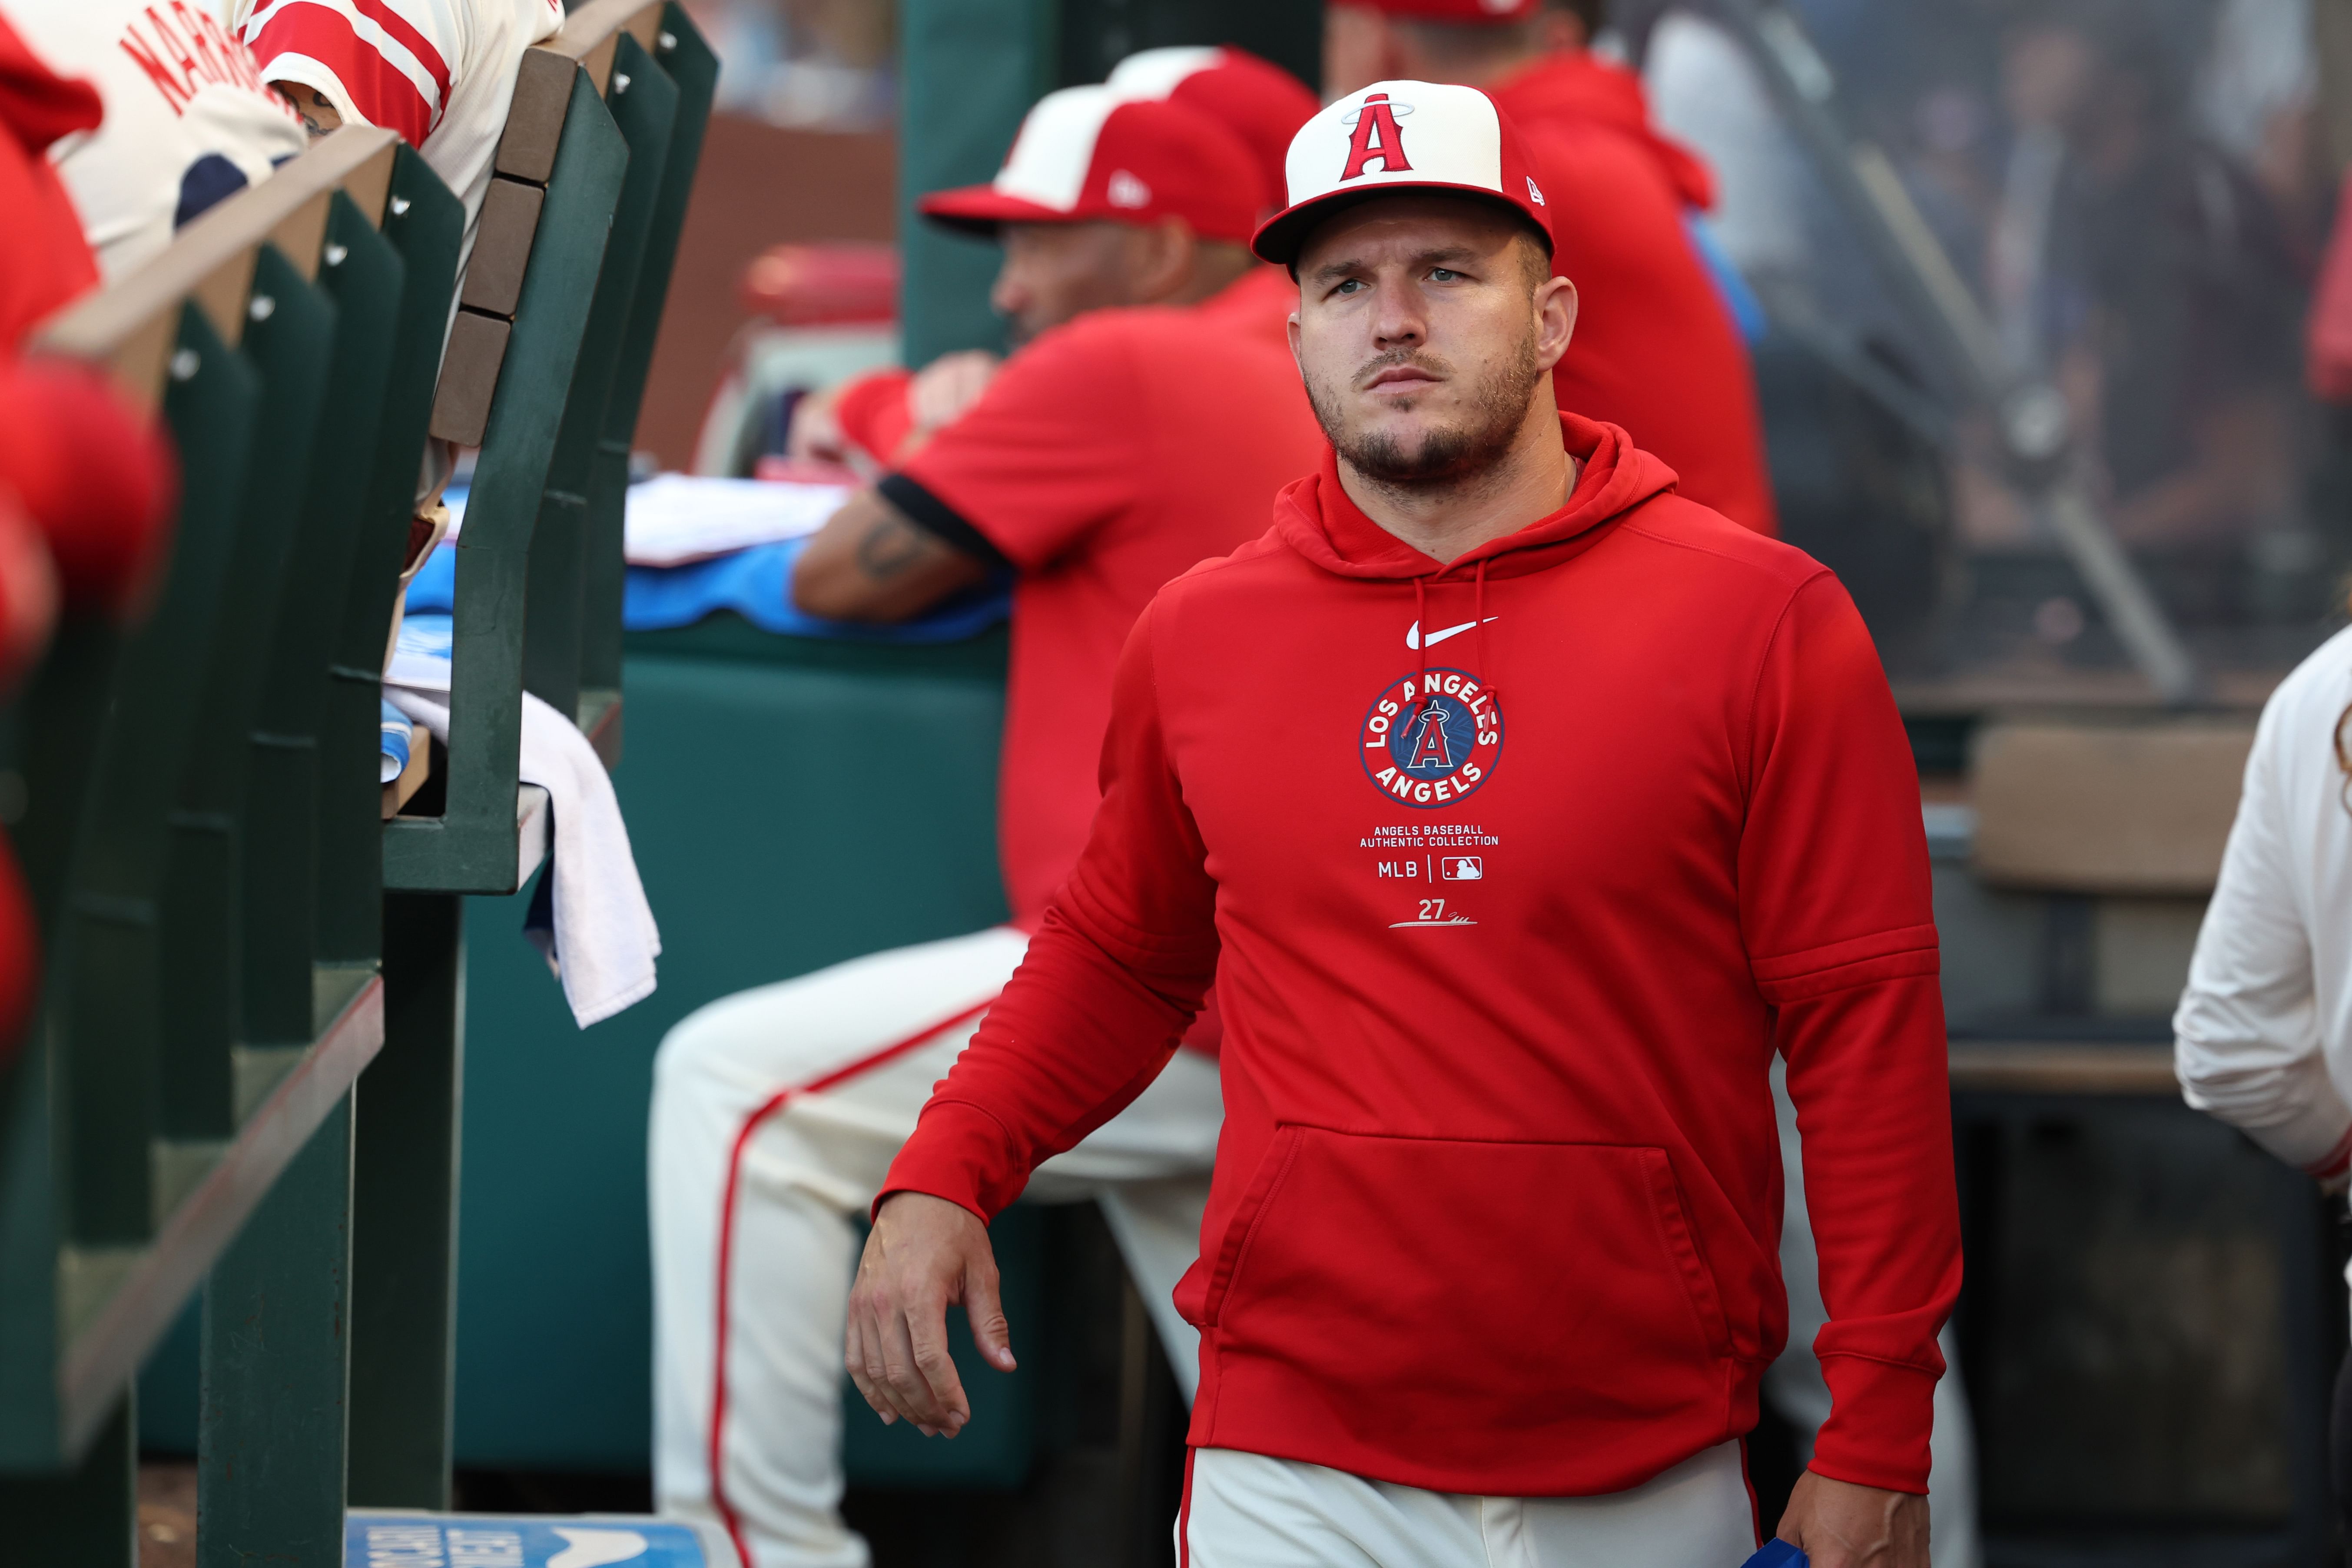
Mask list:
[[[1755,1425],[1778,1048],[1830,1307],[1813,1469],[1926,1490],[1959,1222],[1903,724],[1835,576],[1562,430],[1569,503],[1456,562],[1327,456],[1157,595],[1087,851],[884,1194],[997,1213],[1214,976],[1190,1441],[1611,1493]]]

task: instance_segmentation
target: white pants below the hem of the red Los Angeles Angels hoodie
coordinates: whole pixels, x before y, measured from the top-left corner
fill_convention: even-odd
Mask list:
[[[1470,1497],[1237,1448],[1195,1448],[1178,1568],[1740,1568],[1740,1446],[1604,1497]]]

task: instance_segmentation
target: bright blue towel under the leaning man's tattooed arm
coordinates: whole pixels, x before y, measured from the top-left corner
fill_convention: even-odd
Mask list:
[[[621,599],[621,625],[659,632],[694,625],[731,609],[764,632],[783,637],[840,637],[844,642],[962,642],[978,637],[1011,611],[1011,583],[993,581],[955,595],[929,614],[898,625],[821,621],[793,609],[786,585],[807,538],[734,550],[684,567],[630,567]],[[409,583],[409,614],[456,607],[456,548],[442,545]]]

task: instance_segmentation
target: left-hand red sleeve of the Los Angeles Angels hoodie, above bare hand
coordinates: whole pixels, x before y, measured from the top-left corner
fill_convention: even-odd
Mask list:
[[[995,1218],[1030,1171],[1160,1077],[1216,973],[1216,884],[1169,769],[1152,611],[1120,654],[1094,832],[971,1046],[931,1093],[882,1197]]]

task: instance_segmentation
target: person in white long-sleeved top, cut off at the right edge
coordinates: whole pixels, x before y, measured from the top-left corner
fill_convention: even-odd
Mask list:
[[[2190,1105],[2321,1190],[2352,1182],[2352,630],[2263,705],[2173,1013],[2173,1070]],[[2352,1359],[2331,1436],[2336,1500],[2352,1516]]]

